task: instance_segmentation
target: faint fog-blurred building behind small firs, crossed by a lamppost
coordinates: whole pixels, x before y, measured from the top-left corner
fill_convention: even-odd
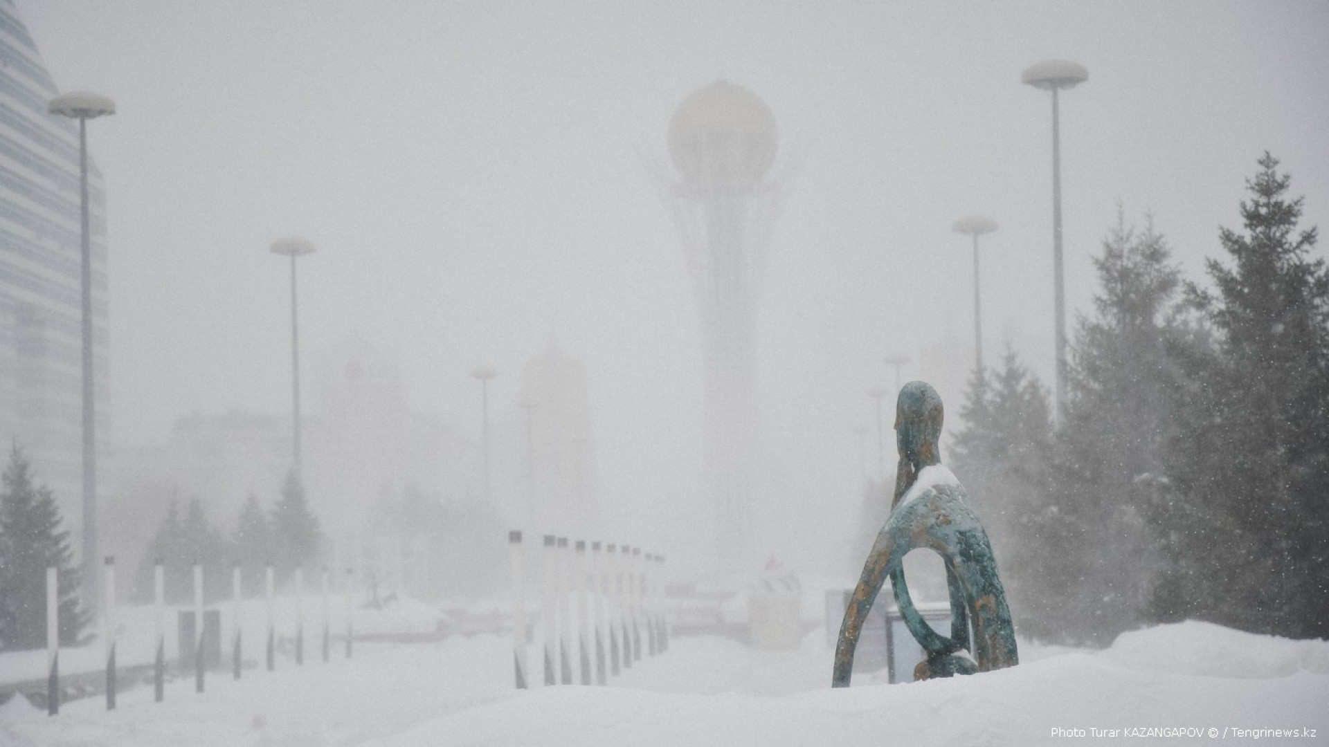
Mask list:
[[[330,550],[373,530],[380,502],[417,492],[439,501],[480,500],[478,449],[437,415],[407,405],[397,356],[346,339],[310,356],[311,407],[304,417],[304,488]],[[117,506],[108,510],[113,546],[137,554],[166,501],[198,496],[213,524],[230,532],[251,493],[271,506],[291,468],[291,419],[230,411],[181,417],[158,444],[125,451]]]

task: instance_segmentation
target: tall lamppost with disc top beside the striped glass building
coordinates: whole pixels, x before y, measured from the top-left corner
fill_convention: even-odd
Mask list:
[[[47,110],[78,120],[78,201],[82,229],[82,587],[86,609],[98,610],[97,587],[97,420],[92,381],[92,229],[88,221],[88,120],[116,113],[100,93],[76,90],[51,100]]]

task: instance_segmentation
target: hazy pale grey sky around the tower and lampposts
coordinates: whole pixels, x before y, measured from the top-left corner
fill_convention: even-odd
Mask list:
[[[1062,98],[1071,308],[1088,310],[1118,201],[1154,213],[1192,278],[1219,226],[1239,227],[1265,149],[1306,195],[1305,225],[1329,217],[1326,3],[19,9],[61,89],[118,105],[89,134],[117,443],[190,411],[287,411],[288,275],[267,246],[298,234],[319,246],[300,261],[303,348],[350,334],[395,348],[411,401],[462,431],[478,432],[466,372],[493,364],[496,417],[518,417],[520,368],[557,334],[586,362],[623,524],[659,524],[695,488],[680,465],[700,452],[696,314],[639,153],[667,163],[671,112],[719,76],[768,102],[781,156],[805,145],[756,342],[775,513],[800,532],[829,536],[857,508],[853,428],[873,421],[865,391],[892,383],[884,355],[920,362],[904,375],[958,411],[973,311],[956,218],[1001,225],[982,246],[989,360],[1010,339],[1049,380],[1050,101],[1021,85],[1029,64],[1090,72]]]

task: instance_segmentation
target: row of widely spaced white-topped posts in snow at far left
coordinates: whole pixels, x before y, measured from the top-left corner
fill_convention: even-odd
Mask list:
[[[351,569],[347,569],[346,591],[346,658],[351,658],[351,642],[355,639],[351,623]],[[106,643],[106,710],[116,707],[116,560],[106,557],[105,565],[105,609],[102,610],[102,641]],[[272,580],[272,566],[264,569],[263,578],[267,593],[267,670],[276,669],[276,622],[275,622],[275,585]],[[323,662],[327,663],[332,645],[332,618],[328,587],[328,568],[323,566]],[[153,573],[154,586],[154,619],[157,657],[153,663],[153,682],[155,698],[159,703],[163,698],[163,683],[166,677],[166,574],[162,561],[157,561]],[[231,641],[231,669],[235,679],[241,678],[242,669],[242,630],[241,622],[241,566],[231,569],[233,593],[233,619],[235,638]],[[304,569],[295,569],[295,663],[304,663]],[[183,654],[185,646],[193,647],[194,653],[194,689],[203,691],[203,566],[194,565],[194,639],[179,641],[179,650]],[[56,715],[60,712],[60,589],[58,576],[54,566],[47,568],[47,712]]]

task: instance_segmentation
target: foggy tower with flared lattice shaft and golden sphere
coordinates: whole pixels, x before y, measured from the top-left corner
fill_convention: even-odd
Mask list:
[[[754,549],[752,332],[779,197],[768,177],[775,117],[751,90],[718,80],[679,104],[668,150],[679,178],[666,194],[692,274],[704,346],[716,560],[722,569],[740,569]]]

